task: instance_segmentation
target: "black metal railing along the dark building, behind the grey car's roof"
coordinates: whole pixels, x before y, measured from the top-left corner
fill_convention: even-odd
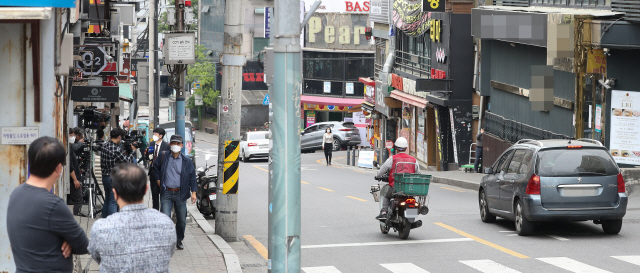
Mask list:
[[[522,122],[506,119],[491,112],[485,113],[485,131],[510,143],[516,143],[521,139],[571,139],[563,134],[536,128]]]

